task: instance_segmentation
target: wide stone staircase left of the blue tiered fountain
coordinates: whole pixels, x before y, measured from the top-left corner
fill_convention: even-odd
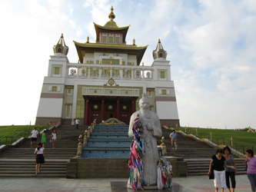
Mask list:
[[[53,130],[58,139],[52,149],[50,137]],[[66,177],[66,164],[69,158],[75,157],[78,147],[78,136],[83,134],[85,126],[77,130],[75,125],[62,125],[46,131],[45,164],[35,176],[35,144],[30,148],[30,139],[25,138],[20,144],[9,146],[0,152],[0,177]],[[38,142],[41,142],[41,136]]]

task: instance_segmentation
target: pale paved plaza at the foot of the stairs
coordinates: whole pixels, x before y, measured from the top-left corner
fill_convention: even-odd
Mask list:
[[[125,186],[127,179],[66,179],[66,178],[1,178],[0,192],[131,192]],[[175,192],[208,192],[214,191],[213,180],[208,176],[175,177]],[[236,176],[237,187],[235,191],[251,191],[247,175]],[[168,190],[146,190],[168,191]],[[219,190],[220,192],[221,190]],[[225,189],[224,191],[228,191]]]

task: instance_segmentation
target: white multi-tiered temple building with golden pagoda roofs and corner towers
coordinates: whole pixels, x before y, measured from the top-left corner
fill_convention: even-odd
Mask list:
[[[68,46],[63,35],[54,46],[48,63],[48,75],[42,85],[35,124],[60,121],[91,124],[117,118],[129,124],[131,114],[138,111],[138,101],[147,94],[151,111],[162,125],[179,126],[175,85],[171,81],[171,65],[160,39],[153,51],[150,66],[141,62],[148,47],[125,41],[128,28],[114,22],[113,8],[104,26],[95,25],[96,41],[74,41],[78,62],[68,61]],[[156,41],[157,42],[157,41]]]

